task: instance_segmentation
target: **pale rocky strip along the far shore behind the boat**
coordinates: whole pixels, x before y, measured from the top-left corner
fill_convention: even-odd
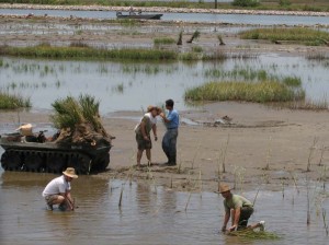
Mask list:
[[[25,10],[75,10],[75,11],[129,11],[129,7],[104,7],[104,5],[47,5],[47,4],[20,4],[1,3],[0,9],[25,9]],[[282,11],[282,10],[235,10],[235,9],[188,9],[147,7],[134,8],[143,12],[170,12],[170,13],[212,13],[212,14],[252,14],[252,15],[298,15],[298,16],[329,16],[329,12],[314,11]]]

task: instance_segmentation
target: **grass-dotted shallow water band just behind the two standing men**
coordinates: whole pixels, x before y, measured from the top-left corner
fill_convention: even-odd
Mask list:
[[[67,95],[88,93],[101,101],[101,113],[140,110],[148,104],[161,105],[168,97],[179,109],[188,109],[186,89],[217,78],[207,70],[235,68],[266,70],[270,74],[302,79],[306,96],[315,102],[328,100],[328,61],[302,57],[260,55],[258,59],[228,59],[223,62],[114,62],[65,61],[2,58],[0,90],[30,96],[34,109],[50,109],[52,103]],[[225,79],[225,78],[224,78]],[[228,78],[229,79],[229,78]]]

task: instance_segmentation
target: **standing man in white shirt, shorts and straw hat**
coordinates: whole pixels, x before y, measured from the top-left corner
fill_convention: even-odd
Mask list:
[[[144,150],[146,151],[146,158],[148,160],[148,164],[151,164],[151,148],[152,141],[150,138],[150,131],[154,132],[155,141],[158,140],[157,136],[157,116],[162,110],[157,106],[148,106],[147,113],[141,118],[140,122],[136,126],[136,141],[137,141],[137,166],[141,166],[140,160],[143,156]]]

